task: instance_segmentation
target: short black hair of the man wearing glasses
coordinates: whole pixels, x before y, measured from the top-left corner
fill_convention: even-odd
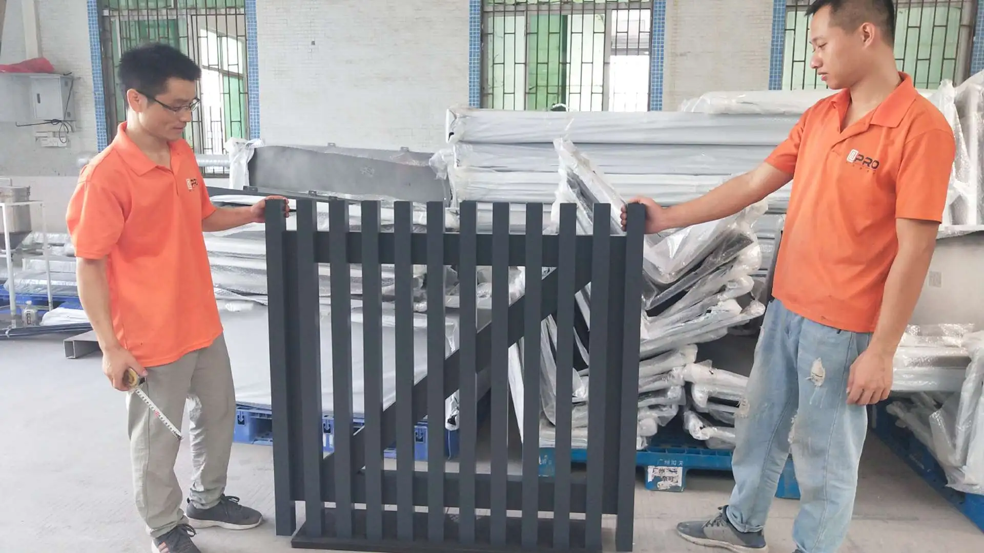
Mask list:
[[[181,50],[160,42],[142,44],[120,56],[119,84],[123,94],[130,89],[156,96],[164,92],[168,79],[198,81],[202,69]]]

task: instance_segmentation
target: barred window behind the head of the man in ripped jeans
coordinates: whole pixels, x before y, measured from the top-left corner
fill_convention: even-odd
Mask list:
[[[810,68],[813,48],[806,9],[811,0],[787,0],[782,88],[826,89]],[[920,89],[945,79],[959,83],[970,71],[976,0],[895,0],[895,62]]]

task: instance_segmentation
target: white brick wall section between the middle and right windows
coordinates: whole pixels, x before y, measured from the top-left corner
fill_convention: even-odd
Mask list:
[[[663,109],[708,91],[769,89],[772,0],[669,0]]]

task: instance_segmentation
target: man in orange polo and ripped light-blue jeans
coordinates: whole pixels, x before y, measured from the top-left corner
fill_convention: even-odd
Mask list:
[[[865,405],[892,389],[892,357],[922,289],[953,166],[953,130],[898,73],[891,0],[818,0],[812,66],[830,89],[751,172],[676,207],[657,232],[732,215],[793,181],[773,296],[736,416],[735,487],[681,536],[767,550],[763,527],[790,453],[798,553],[835,553],[854,508]]]

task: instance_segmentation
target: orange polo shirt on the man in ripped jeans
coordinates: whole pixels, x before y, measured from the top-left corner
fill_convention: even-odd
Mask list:
[[[940,221],[947,201],[953,129],[901,77],[846,129],[849,92],[817,102],[767,159],[793,175],[772,295],[843,331],[875,330],[898,251],[895,219]]]

